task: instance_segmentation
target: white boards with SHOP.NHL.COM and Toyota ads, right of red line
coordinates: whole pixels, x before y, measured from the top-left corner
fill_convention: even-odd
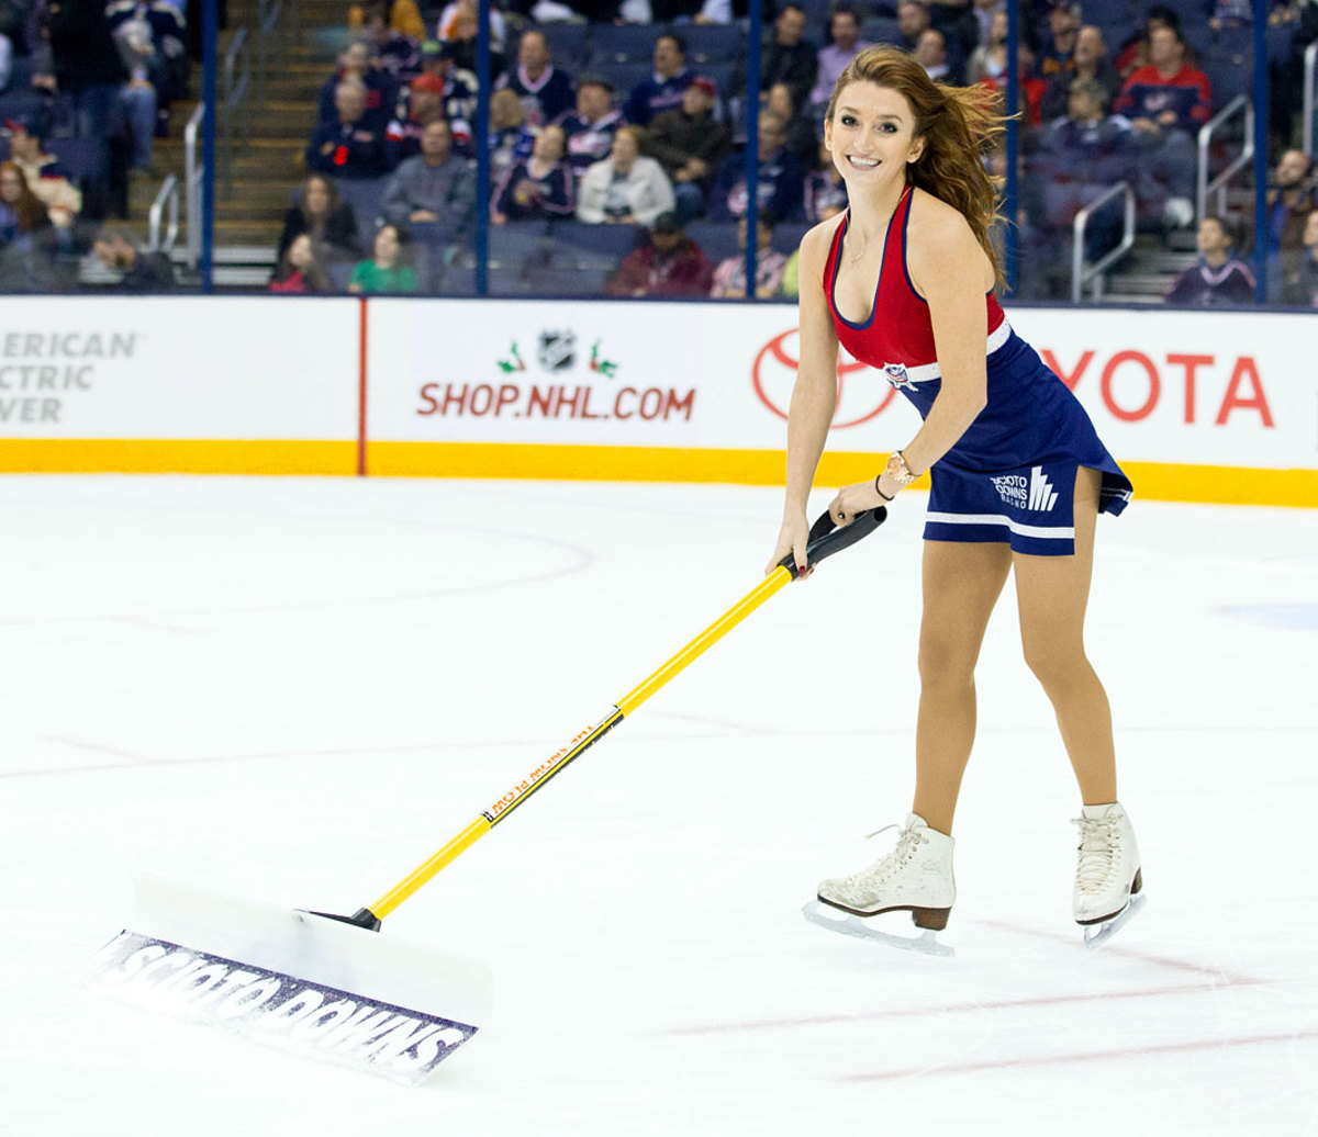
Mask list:
[[[1311,318],[1039,308],[1010,318],[1123,462],[1318,469]],[[456,447],[456,462],[434,472],[489,473],[473,449],[485,445],[522,476],[527,447],[573,447],[587,449],[539,449],[535,461],[565,476],[561,455],[580,466],[589,448],[645,448],[593,452],[594,476],[782,477],[799,357],[791,306],[401,300],[373,303],[370,324],[369,437]],[[880,370],[844,354],[837,385],[825,464],[859,468],[919,428]],[[398,451],[378,453],[385,472],[431,469],[424,451],[403,469],[387,469]],[[855,461],[841,461],[849,455]]]

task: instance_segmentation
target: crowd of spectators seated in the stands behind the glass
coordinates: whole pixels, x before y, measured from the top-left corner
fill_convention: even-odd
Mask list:
[[[1019,294],[1069,294],[1081,211],[1087,261],[1118,245],[1119,203],[1090,204],[1126,182],[1140,233],[1180,248],[1193,235],[1195,265],[1170,300],[1251,302],[1249,254],[1263,242],[1269,299],[1313,302],[1318,200],[1296,140],[1318,0],[1269,5],[1263,233],[1252,232],[1247,192],[1223,195],[1210,216],[1197,204],[1199,130],[1235,96],[1252,96],[1251,4],[1011,3],[1020,30]],[[766,5],[758,224],[747,233],[746,32],[734,0],[500,0],[489,25],[486,186],[474,152],[473,0],[345,4],[345,46],[307,124],[306,180],[285,216],[270,289],[434,290],[448,269],[469,269],[485,202],[492,242],[511,250],[492,258],[492,270],[513,291],[540,269],[589,265],[593,277],[560,283],[613,295],[789,295],[801,232],[846,207],[821,145],[842,69],[871,43],[890,43],[937,82],[981,83],[1006,100],[1007,5]],[[199,12],[199,0],[0,3],[0,287],[61,287],[59,265],[88,254],[128,287],[167,281],[167,258],[134,277],[125,263],[149,263],[149,254],[124,227],[100,231],[127,215],[136,178],[158,174],[154,140],[187,95]],[[1219,149],[1231,144],[1230,128],[1220,138]],[[1220,163],[1218,152],[1213,158]],[[999,175],[1004,161],[986,155]]]

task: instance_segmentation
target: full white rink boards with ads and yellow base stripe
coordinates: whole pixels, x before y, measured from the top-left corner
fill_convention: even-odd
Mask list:
[[[780,484],[787,304],[7,298],[0,470]],[[1318,506],[1313,316],[1010,308],[1136,493]],[[817,481],[913,410],[844,358]]]

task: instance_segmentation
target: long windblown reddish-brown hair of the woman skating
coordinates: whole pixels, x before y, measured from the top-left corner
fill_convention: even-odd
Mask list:
[[[849,83],[874,83],[904,96],[915,112],[915,137],[924,150],[907,163],[907,180],[957,209],[970,225],[1003,281],[998,250],[990,237],[996,221],[998,186],[985,158],[1006,129],[996,96],[987,87],[945,87],[916,61],[895,47],[867,47],[838,75],[826,119],[833,121],[837,96]]]

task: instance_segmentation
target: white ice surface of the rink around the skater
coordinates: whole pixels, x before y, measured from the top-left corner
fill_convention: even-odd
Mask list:
[[[903,498],[386,921],[497,982],[493,1022],[406,1088],[84,991],[129,870],[370,902],[755,585],[780,491],[0,480],[0,1128],[1318,1133],[1318,510],[1101,519],[1089,646],[1148,902],[1098,950],[1008,585],[950,958],[800,914],[909,808],[923,510]]]

